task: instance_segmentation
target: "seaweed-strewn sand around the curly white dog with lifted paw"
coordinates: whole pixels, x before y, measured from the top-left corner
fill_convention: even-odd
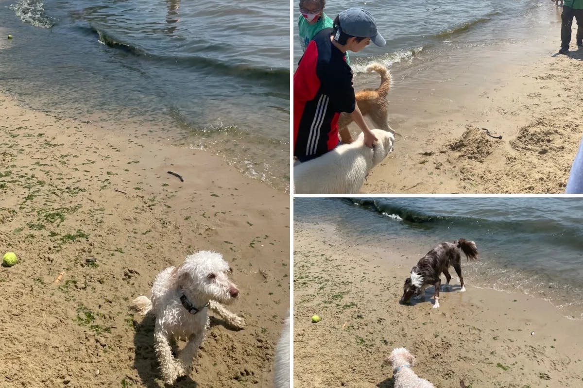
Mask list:
[[[20,259],[0,267],[0,386],[164,386],[153,319],[131,301],[160,270],[213,249],[233,267],[241,297],[229,308],[247,327],[213,318],[175,386],[271,387],[289,196],[205,151],[115,133],[0,97],[0,251]]]

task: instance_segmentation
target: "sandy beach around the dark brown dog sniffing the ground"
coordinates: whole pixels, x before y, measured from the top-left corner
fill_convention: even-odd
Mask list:
[[[294,224],[296,387],[391,388],[391,368],[381,363],[403,346],[417,358],[417,375],[439,388],[460,380],[472,388],[583,387],[581,321],[546,302],[468,280],[457,292],[453,277],[440,308],[433,294],[400,305],[403,281],[429,248],[357,246],[331,227]],[[314,314],[321,322],[311,323]]]

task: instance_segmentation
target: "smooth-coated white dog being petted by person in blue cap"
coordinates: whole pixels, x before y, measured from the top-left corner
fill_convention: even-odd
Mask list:
[[[352,144],[342,144],[332,151],[294,165],[294,191],[298,194],[357,193],[368,172],[393,150],[391,132],[373,129],[378,141],[373,149],[364,144],[364,134]]]

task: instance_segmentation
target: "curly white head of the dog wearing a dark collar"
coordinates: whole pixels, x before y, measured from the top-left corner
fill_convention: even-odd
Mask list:
[[[184,263],[175,269],[176,285],[192,294],[206,295],[222,304],[230,304],[237,298],[239,290],[229,280],[232,270],[223,260],[223,255],[212,251],[200,251],[187,256]]]

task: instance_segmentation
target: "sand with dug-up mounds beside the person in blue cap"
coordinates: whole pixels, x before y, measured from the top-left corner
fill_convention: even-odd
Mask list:
[[[395,152],[368,175],[361,192],[564,193],[583,136],[583,49],[575,45],[568,57],[553,55],[558,31],[555,35],[545,43],[546,55],[528,54],[533,62],[526,66],[512,64],[511,59],[495,70],[484,64],[472,66],[472,60],[487,64],[495,59],[494,50],[477,49],[468,53],[472,59],[451,69],[447,59],[427,65],[424,72],[444,78],[468,74],[454,90],[443,90],[447,82],[428,82],[423,93],[441,93],[442,98],[427,97],[424,109],[416,107],[423,104],[416,98],[402,101],[411,97],[403,96],[403,88],[415,79],[402,81],[395,73],[389,124],[404,136],[397,139]],[[444,69],[435,70],[436,66]],[[483,82],[483,77],[488,80]],[[370,81],[373,87],[377,79]],[[448,105],[448,101],[455,102]],[[481,128],[501,135],[502,140],[487,136]],[[353,125],[351,132],[356,135],[359,130]]]

